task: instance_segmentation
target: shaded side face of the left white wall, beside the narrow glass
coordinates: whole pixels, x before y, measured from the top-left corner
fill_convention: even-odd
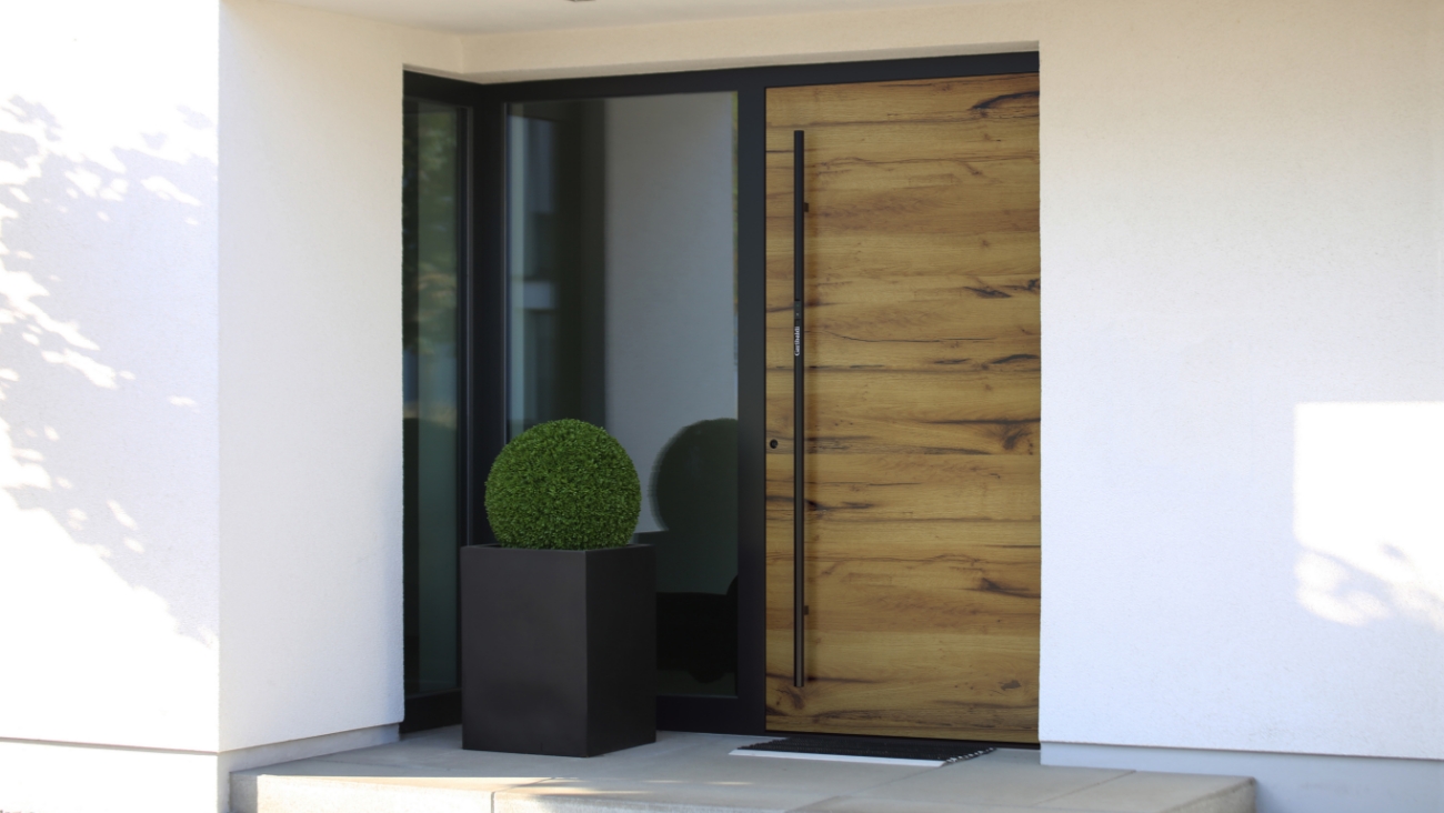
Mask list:
[[[401,719],[401,74],[452,39],[254,0],[221,35],[221,732]]]

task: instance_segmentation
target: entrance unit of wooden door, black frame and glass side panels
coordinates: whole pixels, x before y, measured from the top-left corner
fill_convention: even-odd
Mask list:
[[[658,544],[658,726],[1037,738],[1037,71],[1027,52],[406,75],[414,110],[453,116],[435,144],[409,136],[409,160],[456,183],[430,219],[419,188],[412,230],[452,264],[413,251],[407,302],[455,322],[417,334],[440,367],[420,368],[414,409],[455,426],[427,440],[423,425],[416,445],[407,422],[403,729],[459,721],[455,677],[412,680],[446,679],[453,661],[427,653],[455,656],[455,582],[429,563],[491,542],[491,462],[569,416],[631,438],[650,487],[637,530]],[[794,687],[797,130],[810,510]],[[427,384],[448,371],[452,396]],[[427,559],[432,542],[452,556]],[[689,555],[667,565],[667,547]]]

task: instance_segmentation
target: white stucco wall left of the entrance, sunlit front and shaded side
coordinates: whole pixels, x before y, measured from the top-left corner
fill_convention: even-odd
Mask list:
[[[401,74],[458,55],[0,1],[0,809],[217,809],[394,738]]]

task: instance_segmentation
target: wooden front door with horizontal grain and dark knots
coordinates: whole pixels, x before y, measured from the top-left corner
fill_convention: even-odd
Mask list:
[[[773,88],[767,127],[767,725],[1037,742],[1038,77]]]

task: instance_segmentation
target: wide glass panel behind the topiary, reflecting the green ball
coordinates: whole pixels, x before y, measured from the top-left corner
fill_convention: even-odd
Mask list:
[[[657,547],[658,690],[736,693],[734,94],[514,104],[508,430],[606,427]]]

